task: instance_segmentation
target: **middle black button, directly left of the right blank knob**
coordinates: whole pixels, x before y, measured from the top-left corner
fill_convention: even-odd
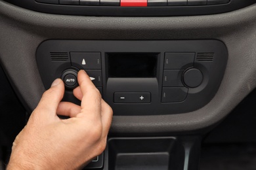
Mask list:
[[[163,71],[163,86],[165,87],[183,87],[182,73],[184,70],[165,70]]]

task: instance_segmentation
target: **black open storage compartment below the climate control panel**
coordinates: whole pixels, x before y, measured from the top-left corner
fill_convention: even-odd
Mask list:
[[[108,169],[183,169],[184,147],[175,137],[108,141]]]

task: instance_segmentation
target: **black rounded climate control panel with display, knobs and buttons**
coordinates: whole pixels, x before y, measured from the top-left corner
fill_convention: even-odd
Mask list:
[[[55,78],[72,94],[84,69],[115,115],[177,114],[200,109],[217,92],[228,52],[221,41],[43,42],[37,65],[48,89]]]

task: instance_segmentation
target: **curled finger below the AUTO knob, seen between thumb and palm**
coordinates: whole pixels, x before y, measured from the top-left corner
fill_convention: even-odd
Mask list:
[[[70,116],[70,118],[75,117],[79,112],[81,112],[81,107],[65,101],[60,102],[57,109],[58,115]]]

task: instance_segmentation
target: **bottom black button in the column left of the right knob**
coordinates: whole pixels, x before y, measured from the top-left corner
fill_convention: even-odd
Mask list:
[[[188,88],[163,88],[161,102],[172,103],[184,101],[187,93]]]

